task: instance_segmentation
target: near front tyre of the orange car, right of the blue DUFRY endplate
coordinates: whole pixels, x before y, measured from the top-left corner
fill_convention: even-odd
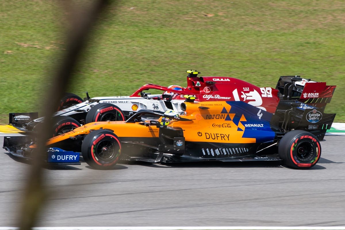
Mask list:
[[[111,131],[95,130],[83,140],[81,154],[92,168],[111,169],[119,160],[121,142]]]

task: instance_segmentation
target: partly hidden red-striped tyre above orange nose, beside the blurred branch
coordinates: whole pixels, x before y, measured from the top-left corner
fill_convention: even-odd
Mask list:
[[[52,118],[52,136],[58,136],[63,133],[72,131],[73,129],[81,126],[80,123],[68,116],[56,116]]]

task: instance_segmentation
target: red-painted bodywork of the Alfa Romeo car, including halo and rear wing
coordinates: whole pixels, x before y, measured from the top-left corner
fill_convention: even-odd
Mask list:
[[[326,86],[326,82],[307,82],[300,96],[301,102],[323,107],[331,101],[336,86]],[[231,77],[188,77],[187,87],[174,90],[157,84],[146,84],[130,97],[140,97],[140,92],[158,89],[174,93],[171,99],[185,100],[184,95],[195,95],[196,101],[243,101],[267,112],[276,111],[279,90],[271,87],[257,87],[249,82]],[[164,94],[162,94],[162,98]]]

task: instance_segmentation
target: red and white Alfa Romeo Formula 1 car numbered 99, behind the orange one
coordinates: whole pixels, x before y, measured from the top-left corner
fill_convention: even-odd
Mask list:
[[[61,100],[62,110],[52,118],[52,136],[68,132],[95,121],[121,121],[128,119],[140,109],[164,112],[180,109],[184,95],[194,95],[196,101],[243,101],[258,109],[274,113],[279,100],[299,100],[307,105],[322,108],[332,98],[335,86],[325,82],[315,82],[299,76],[281,76],[276,88],[257,87],[246,81],[231,77],[198,77],[199,72],[188,70],[187,87],[163,87],[146,84],[126,97],[87,97],[80,101],[74,94]],[[151,95],[148,90],[160,90],[161,94]],[[34,132],[43,118],[30,119],[29,114],[10,114],[10,122],[22,131]]]

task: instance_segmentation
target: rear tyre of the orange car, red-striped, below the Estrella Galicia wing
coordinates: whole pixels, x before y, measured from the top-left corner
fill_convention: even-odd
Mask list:
[[[321,144],[312,133],[292,130],[280,140],[278,153],[286,166],[309,169],[320,159]]]

